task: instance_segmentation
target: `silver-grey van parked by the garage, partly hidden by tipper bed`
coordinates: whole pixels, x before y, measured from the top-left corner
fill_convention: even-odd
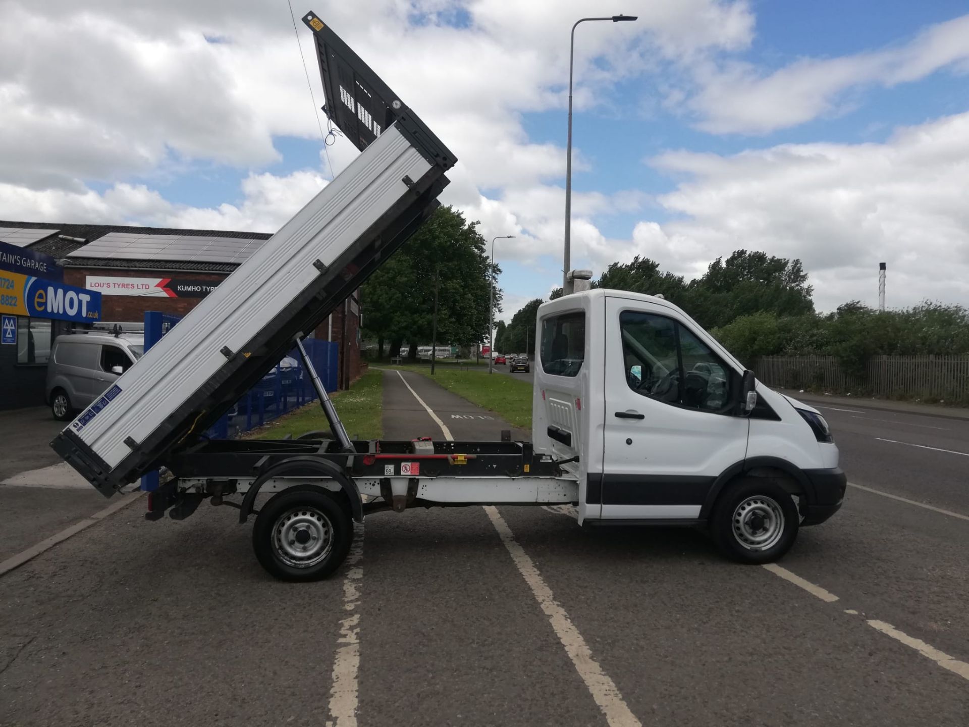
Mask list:
[[[45,400],[66,422],[84,409],[144,353],[144,334],[78,332],[58,335],[47,362]]]

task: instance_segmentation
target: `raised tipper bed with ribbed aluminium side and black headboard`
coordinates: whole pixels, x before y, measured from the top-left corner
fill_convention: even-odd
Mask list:
[[[421,225],[450,150],[314,14],[330,120],[353,163],[144,353],[51,447],[106,496],[193,444]]]

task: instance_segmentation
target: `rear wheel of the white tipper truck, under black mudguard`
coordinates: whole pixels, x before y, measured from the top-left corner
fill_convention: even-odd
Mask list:
[[[281,581],[319,581],[350,552],[353,520],[328,490],[304,485],[266,502],[252,529],[252,547]]]

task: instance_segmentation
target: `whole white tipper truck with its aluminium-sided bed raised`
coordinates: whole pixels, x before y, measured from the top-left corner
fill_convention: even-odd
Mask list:
[[[452,152],[315,14],[329,119],[361,153],[54,440],[106,496],[158,468],[146,520],[204,499],[253,528],[288,581],[326,577],[353,521],[411,507],[577,507],[578,524],[690,525],[763,563],[841,506],[846,478],[815,409],[757,382],[667,300],[592,290],[538,311],[532,440],[357,441],[303,353],[328,432],[204,436],[240,395],[436,207]],[[241,495],[241,502],[230,498]]]

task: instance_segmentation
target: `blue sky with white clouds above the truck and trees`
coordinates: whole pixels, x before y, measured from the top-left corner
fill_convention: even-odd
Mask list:
[[[0,219],[275,232],[325,147],[319,15],[453,150],[506,321],[572,268],[799,258],[822,311],[969,305],[964,0],[0,0]],[[301,43],[300,47],[297,45]],[[309,70],[307,87],[300,52]],[[323,119],[324,129],[326,119]]]

